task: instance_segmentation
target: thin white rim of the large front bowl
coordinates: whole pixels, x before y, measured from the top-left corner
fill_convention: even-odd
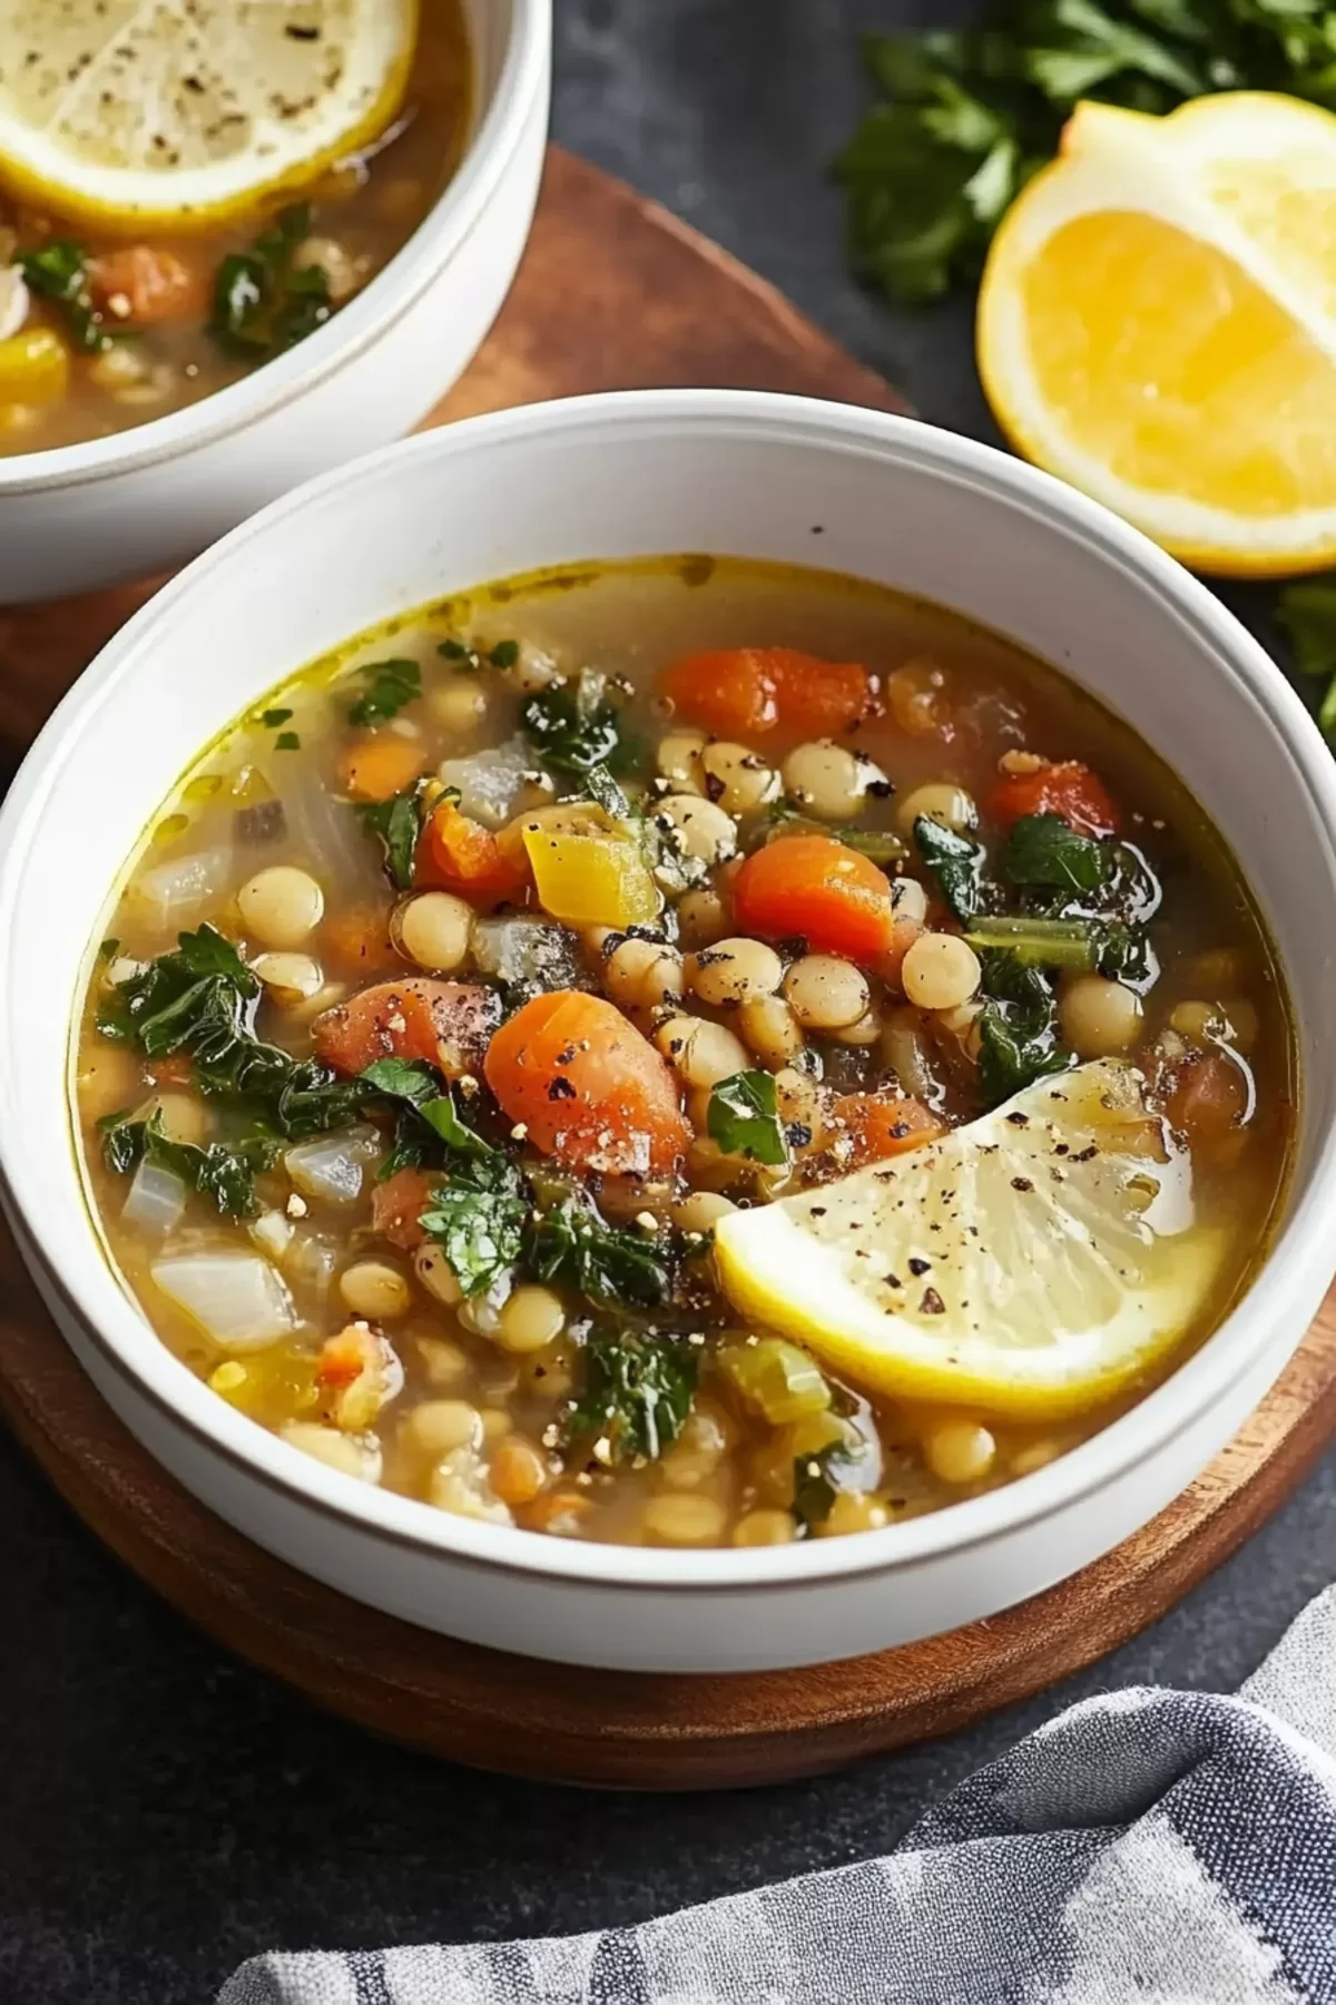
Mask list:
[[[945,483],[983,491],[1004,507],[1020,509],[1050,531],[1082,543],[1114,563],[1138,589],[1160,593],[1204,654],[1220,662],[1236,692],[1266,716],[1302,776],[1318,822],[1336,856],[1336,766],[1298,694],[1258,640],[1180,563],[1106,507],[1036,467],[995,447],[851,405],[785,397],[769,391],[617,391],[559,403],[463,419],[439,431],[401,439],[351,465],[306,481],[196,557],[162,587],[98,654],[66,694],[28,752],[0,808],[0,936],[14,932],[14,890],[28,854],[40,846],[44,806],[60,780],[66,748],[96,732],[102,708],[122,684],[144,674],[154,656],[154,632],[216,573],[244,567],[246,551],[260,539],[288,529],[306,509],[347,487],[347,505],[365,481],[387,463],[411,457],[449,461],[527,437],[547,441],[599,429],[649,427],[655,433],[697,437],[793,439],[835,453],[871,455],[917,469]],[[0,964],[0,1000],[12,982],[12,956]],[[180,1363],[154,1335],[128,1289],[120,1283],[98,1241],[80,1191],[80,1247],[76,1271],[62,1273],[46,1253],[34,1207],[24,1201],[28,1161],[14,1145],[16,1123],[6,1119],[8,1051],[0,1055],[0,1201],[14,1223],[28,1261],[36,1259],[44,1291],[54,1295],[92,1343],[100,1361],[146,1399],[158,1418],[210,1456],[220,1456],[246,1482],[258,1482],[290,1508],[306,1506],[419,1560],[441,1558],[455,1566],[503,1576],[529,1576],[547,1584],[589,1584],[647,1592],[785,1592],[801,1584],[833,1584],[859,1576],[913,1572],[919,1564],[989,1546],[995,1540],[1056,1518],[1084,1498],[1124,1478],[1162,1450],[1174,1434],[1256,1369],[1270,1331],[1288,1317],[1310,1313],[1320,1287],[1330,1281],[1324,1227],[1336,1211],[1336,1131],[1310,1149],[1304,1175],[1294,1175],[1286,1215],[1266,1261],[1224,1323],[1128,1414],[1100,1434],[1030,1476],[855,1538],[805,1540],[773,1548],[673,1550],[583,1544],[543,1538],[509,1526],[435,1512],[389,1490],[357,1484],[314,1458],[288,1448],[226,1401]],[[1310,1105],[1302,1097],[1300,1109]],[[40,1143],[42,1149],[50,1143]],[[54,1143],[72,1157],[70,1135]],[[82,1181],[82,1179],[80,1179]],[[70,1249],[66,1249],[70,1251]],[[1266,1313],[1260,1311],[1266,1283]]]

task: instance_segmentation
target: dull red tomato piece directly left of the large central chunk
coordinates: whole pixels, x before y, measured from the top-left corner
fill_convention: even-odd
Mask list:
[[[377,1059],[421,1059],[449,1079],[483,1063],[501,1000],[479,982],[439,982],[411,974],[377,982],[310,1025],[316,1059],[337,1073],[365,1073]]]

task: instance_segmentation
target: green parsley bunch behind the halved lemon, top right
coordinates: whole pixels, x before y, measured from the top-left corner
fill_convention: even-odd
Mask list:
[[[1324,0],[991,0],[979,26],[881,34],[881,94],[835,162],[855,269],[921,305],[977,279],[1078,98],[1168,112],[1210,90],[1336,102]]]

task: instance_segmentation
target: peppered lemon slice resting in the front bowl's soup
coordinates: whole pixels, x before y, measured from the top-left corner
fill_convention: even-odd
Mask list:
[[[715,1227],[747,1317],[859,1383],[1020,1420],[1136,1381],[1224,1263],[1134,1067],[1028,1087],[937,1143]]]

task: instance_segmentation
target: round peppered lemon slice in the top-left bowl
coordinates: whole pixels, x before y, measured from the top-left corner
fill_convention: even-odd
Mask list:
[[[0,184],[106,229],[194,229],[395,114],[417,0],[0,6]]]

